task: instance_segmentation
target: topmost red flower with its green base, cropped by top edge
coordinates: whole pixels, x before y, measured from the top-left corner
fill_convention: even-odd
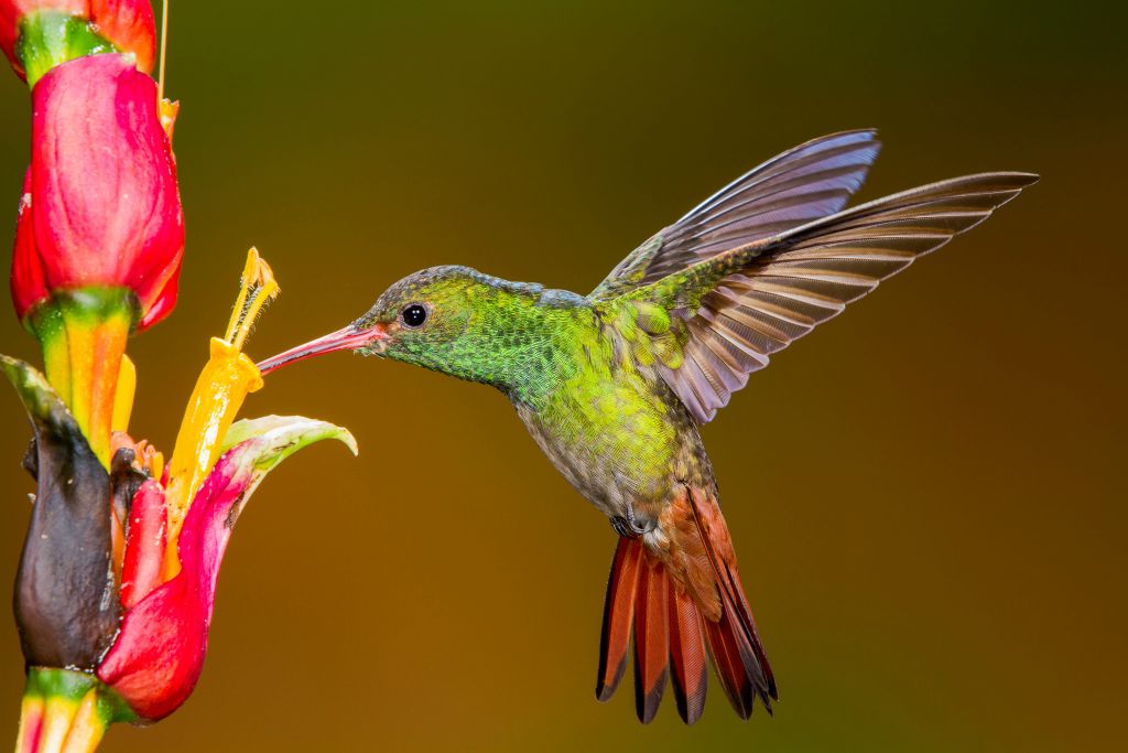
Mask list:
[[[0,0],[0,47],[28,84],[95,52],[132,53],[149,72],[157,26],[148,0]]]

